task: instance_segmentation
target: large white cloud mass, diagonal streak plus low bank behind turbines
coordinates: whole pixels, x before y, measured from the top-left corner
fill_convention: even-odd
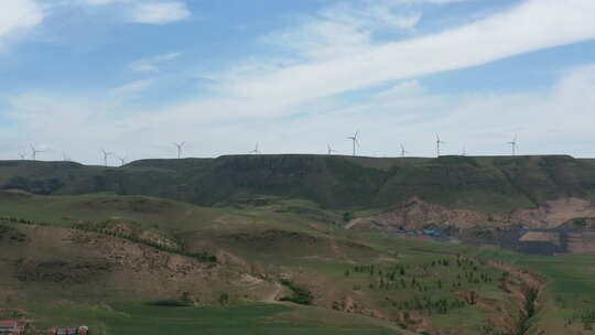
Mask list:
[[[18,152],[14,143],[23,139],[24,145],[51,143],[86,162],[99,159],[88,148],[120,148],[119,154],[134,152],[130,159],[172,156],[175,151],[167,143],[191,139],[201,143],[192,155],[244,153],[257,141],[267,153],[322,153],[327,142],[348,153],[344,138],[360,129],[363,154],[397,155],[403,142],[418,155],[431,155],[437,131],[448,142],[445,153],[458,153],[463,145],[470,154],[508,153],[505,143],[518,132],[521,153],[592,156],[595,65],[564,73],[549,90],[518,94],[429,95],[410,78],[594,39],[594,13],[595,2],[587,0],[529,0],[469,25],[385,44],[366,35],[369,28],[342,32],[348,25],[340,20],[323,20],[346,39],[361,34],[353,43],[347,39],[336,44],[357,47],[324,55],[305,47],[299,64],[267,60],[238,65],[220,74],[217,96],[154,109],[72,97],[14,98],[8,117],[17,126],[0,131],[0,153]],[[160,62],[175,57],[141,60],[145,62],[131,68],[154,72]],[[402,83],[361,102],[336,96],[396,79]],[[138,94],[151,84],[130,83],[109,99]],[[84,139],[84,145],[76,145],[82,149],[73,147],[73,139]]]

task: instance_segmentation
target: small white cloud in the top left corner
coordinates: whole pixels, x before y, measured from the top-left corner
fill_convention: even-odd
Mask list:
[[[44,12],[34,0],[2,0],[0,4],[0,43],[11,35],[42,23]]]

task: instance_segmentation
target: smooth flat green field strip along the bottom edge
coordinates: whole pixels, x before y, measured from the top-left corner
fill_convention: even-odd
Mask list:
[[[37,326],[90,325],[101,334],[394,334],[361,316],[300,306],[246,304],[228,307],[159,307],[143,302],[100,306],[32,306]]]

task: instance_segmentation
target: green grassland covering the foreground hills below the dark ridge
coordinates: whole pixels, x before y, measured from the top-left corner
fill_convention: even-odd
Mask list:
[[[23,281],[4,273],[0,285],[18,293],[0,293],[0,309],[23,309],[39,325],[85,323],[108,335],[237,334],[240,329],[246,334],[393,334],[396,328],[403,334],[517,335],[507,324],[516,322],[523,305],[517,294],[523,282],[487,262],[499,260],[547,281],[522,334],[593,334],[588,329],[595,304],[593,255],[537,257],[345,230],[336,224],[343,213],[280,196],[201,207],[137,195],[1,192],[0,216],[25,220],[1,223],[8,227],[8,233],[0,233],[0,262],[6,269],[15,261],[45,266],[56,259],[88,264],[109,255],[110,248],[133,248],[122,249],[121,255],[139,260],[139,253],[150,250],[167,255],[180,250],[177,261],[185,257],[182,251],[208,252],[217,255],[217,263],[197,261],[208,275],[194,285],[178,282],[180,275],[160,267],[140,268],[138,273],[112,268],[101,274],[106,280],[78,282]],[[110,224],[133,229],[126,233],[130,236],[118,235],[108,229]],[[97,229],[89,231],[89,227]],[[77,245],[69,237],[73,231],[98,242],[93,248]],[[160,249],[139,238],[154,235],[178,249]],[[242,275],[261,283],[250,291],[252,284],[239,283]],[[163,280],[152,281],[152,277]],[[259,303],[283,278],[312,294],[313,305]],[[127,287],[123,280],[142,290]],[[147,304],[176,299],[182,290],[196,298],[197,307]],[[218,301],[224,292],[229,300]],[[275,298],[291,294],[284,285]],[[507,316],[499,320],[499,315]]]

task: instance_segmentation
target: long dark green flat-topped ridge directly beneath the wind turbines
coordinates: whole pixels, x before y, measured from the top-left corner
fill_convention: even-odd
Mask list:
[[[374,159],[230,155],[142,160],[122,168],[71,162],[0,162],[0,188],[66,195],[113,192],[198,205],[260,195],[306,198],[327,208],[388,208],[418,196],[487,212],[595,194],[595,164],[566,155]]]

